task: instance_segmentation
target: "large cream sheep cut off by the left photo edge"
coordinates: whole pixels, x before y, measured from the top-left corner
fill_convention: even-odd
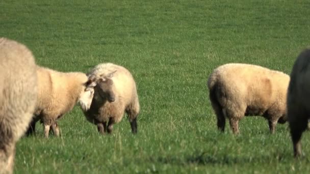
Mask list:
[[[0,38],[0,173],[12,173],[15,146],[35,109],[37,77],[29,48]]]

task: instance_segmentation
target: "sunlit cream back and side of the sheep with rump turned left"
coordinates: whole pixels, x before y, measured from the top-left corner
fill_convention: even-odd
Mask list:
[[[288,77],[284,73],[249,64],[225,64],[214,73],[228,97],[260,108],[271,106],[278,97],[276,79]]]

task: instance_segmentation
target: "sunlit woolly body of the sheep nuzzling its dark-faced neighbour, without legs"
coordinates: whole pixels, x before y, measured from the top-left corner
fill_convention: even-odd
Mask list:
[[[84,90],[87,76],[81,72],[59,72],[41,67],[41,108],[59,116],[71,110]]]

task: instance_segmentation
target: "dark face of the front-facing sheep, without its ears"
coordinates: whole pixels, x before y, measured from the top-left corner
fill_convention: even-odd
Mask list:
[[[110,78],[100,78],[96,85],[98,94],[102,98],[106,98],[109,102],[115,101],[115,94],[112,90],[112,86],[113,80]]]

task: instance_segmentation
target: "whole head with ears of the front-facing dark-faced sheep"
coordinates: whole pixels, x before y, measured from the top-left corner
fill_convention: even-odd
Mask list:
[[[115,101],[115,94],[113,92],[113,80],[111,79],[116,71],[108,75],[101,75],[96,77],[94,75],[89,77],[89,86],[93,86],[98,95],[107,99],[109,102]]]

